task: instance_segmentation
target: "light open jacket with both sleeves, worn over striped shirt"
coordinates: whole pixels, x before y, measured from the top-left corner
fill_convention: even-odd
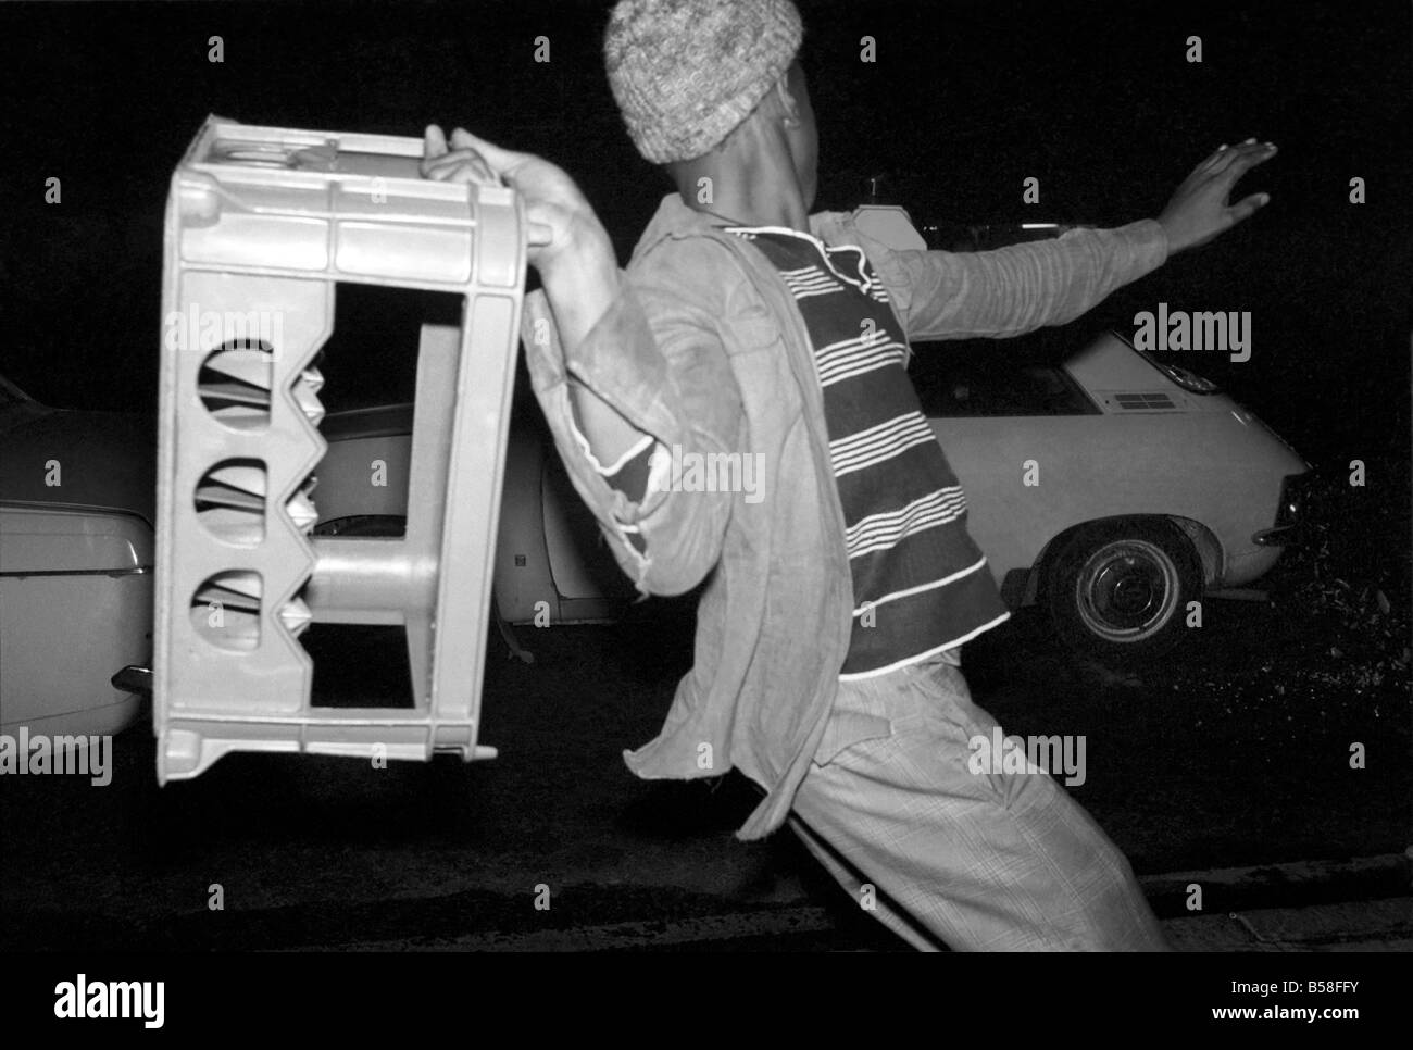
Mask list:
[[[893,250],[844,212],[811,216],[810,228],[827,244],[865,250],[909,339],[1064,324],[1167,257],[1154,220],[982,253]],[[811,760],[889,732],[835,725],[824,739],[853,612],[824,394],[774,267],[677,194],[663,199],[622,278],[568,360],[543,293],[526,300],[523,335],[569,478],[637,589],[677,595],[709,577],[692,668],[663,732],[625,759],[647,779],[740,769],[766,797],[736,834],[760,838],[784,822]],[[757,495],[650,490],[629,500],[584,452],[567,370],[682,462],[759,454]]]

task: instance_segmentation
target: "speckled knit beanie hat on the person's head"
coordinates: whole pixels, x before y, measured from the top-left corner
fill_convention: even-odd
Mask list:
[[[791,0],[619,0],[603,59],[637,151],[701,157],[750,116],[801,35]]]

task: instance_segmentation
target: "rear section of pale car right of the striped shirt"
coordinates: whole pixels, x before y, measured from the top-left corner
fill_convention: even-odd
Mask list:
[[[1118,332],[917,343],[914,386],[1013,606],[1105,657],[1145,657],[1204,595],[1275,565],[1301,456],[1215,384]],[[1191,623],[1190,623],[1191,622]]]

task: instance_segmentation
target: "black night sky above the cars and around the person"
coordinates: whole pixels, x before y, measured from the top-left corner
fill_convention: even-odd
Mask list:
[[[602,72],[609,4],[7,4],[3,370],[65,407],[155,407],[167,179],[208,113],[420,134],[462,123],[579,179],[627,257],[666,191]],[[885,172],[923,222],[1154,216],[1222,141],[1280,153],[1273,202],[1119,293],[1136,309],[1249,309],[1253,355],[1194,366],[1313,461],[1407,459],[1413,237],[1402,3],[803,3],[818,206]],[[551,62],[531,59],[534,38]],[[859,37],[877,62],[859,61]],[[1202,38],[1202,62],[1184,59]],[[208,62],[208,38],[225,62]],[[62,203],[44,181],[62,179]],[[1022,205],[1040,179],[1041,203]],[[1348,202],[1349,178],[1368,203]],[[410,394],[415,321],[341,301],[331,408]]]

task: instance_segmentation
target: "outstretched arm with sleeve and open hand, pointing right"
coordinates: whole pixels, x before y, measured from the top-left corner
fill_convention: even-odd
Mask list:
[[[1084,314],[1178,252],[1205,244],[1269,201],[1226,199],[1236,179],[1275,155],[1249,140],[1221,147],[1178,187],[1157,219],[993,252],[882,252],[880,271],[904,288],[913,339],[1022,335]],[[882,246],[879,246],[882,247]]]

